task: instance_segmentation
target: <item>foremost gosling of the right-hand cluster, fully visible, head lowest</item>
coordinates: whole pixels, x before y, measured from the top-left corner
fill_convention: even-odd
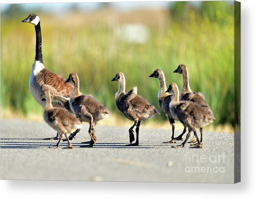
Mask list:
[[[197,148],[202,148],[202,144],[197,137],[196,128],[203,128],[215,120],[212,111],[209,107],[201,106],[196,102],[179,101],[179,88],[175,83],[171,83],[166,92],[173,93],[173,100],[169,104],[171,115],[188,128],[185,141],[181,145],[173,147],[184,147],[193,131],[197,139]]]

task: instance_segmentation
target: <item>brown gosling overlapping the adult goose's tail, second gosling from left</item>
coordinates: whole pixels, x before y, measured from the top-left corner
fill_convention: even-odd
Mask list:
[[[74,83],[74,89],[69,99],[71,110],[76,114],[77,117],[79,117],[79,119],[90,124],[88,132],[90,134],[91,141],[89,142],[89,145],[81,147],[92,147],[93,144],[96,144],[97,140],[94,134],[96,122],[109,117],[110,111],[106,106],[92,97],[92,95],[83,95],[79,91],[79,79],[76,73],[70,73],[66,82]]]

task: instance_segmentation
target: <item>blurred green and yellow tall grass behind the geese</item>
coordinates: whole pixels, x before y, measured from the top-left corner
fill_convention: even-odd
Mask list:
[[[35,57],[34,27],[21,23],[28,14],[1,14],[1,108],[25,116],[43,112],[28,88]],[[162,68],[167,86],[177,82],[181,89],[182,76],[173,71],[179,64],[186,64],[190,86],[204,93],[216,118],[214,125],[234,126],[233,14],[216,11],[217,20],[193,9],[188,9],[182,20],[169,16],[167,11],[140,11],[125,16],[113,11],[90,16],[38,14],[46,68],[64,78],[76,72],[81,92],[94,95],[114,115],[120,115],[114,104],[118,84],[111,82],[116,72],[125,74],[126,91],[137,86],[138,94],[160,110],[158,80],[149,75]],[[149,28],[150,37],[144,44],[126,43],[116,36],[115,29],[131,21]],[[166,117],[161,112],[154,120]]]

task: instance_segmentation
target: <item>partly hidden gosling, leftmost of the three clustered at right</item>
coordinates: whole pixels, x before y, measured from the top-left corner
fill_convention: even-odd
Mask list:
[[[158,103],[162,111],[164,111],[166,117],[168,118],[171,126],[172,126],[172,136],[171,136],[171,141],[168,142],[163,142],[163,143],[175,143],[175,140],[181,140],[182,135],[184,134],[183,132],[186,132],[186,128],[184,128],[184,131],[182,132],[183,134],[179,137],[174,138],[174,130],[175,130],[175,121],[173,117],[171,116],[170,109],[169,109],[169,104],[171,100],[173,99],[173,95],[170,95],[169,93],[166,93],[166,82],[165,82],[165,77],[164,77],[164,72],[162,69],[158,68],[155,69],[155,71],[149,75],[149,77],[155,77],[159,80],[159,92],[158,92]]]

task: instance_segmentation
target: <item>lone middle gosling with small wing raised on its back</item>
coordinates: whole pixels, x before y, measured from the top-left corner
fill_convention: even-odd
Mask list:
[[[117,81],[119,83],[119,89],[115,95],[116,107],[123,115],[134,122],[133,126],[129,129],[131,144],[126,144],[126,146],[138,146],[140,122],[152,117],[156,113],[160,113],[155,106],[152,106],[147,100],[137,95],[137,87],[133,87],[131,91],[125,94],[125,77],[123,73],[116,73],[111,81]],[[134,141],[134,126],[136,126],[136,142],[132,144]]]

